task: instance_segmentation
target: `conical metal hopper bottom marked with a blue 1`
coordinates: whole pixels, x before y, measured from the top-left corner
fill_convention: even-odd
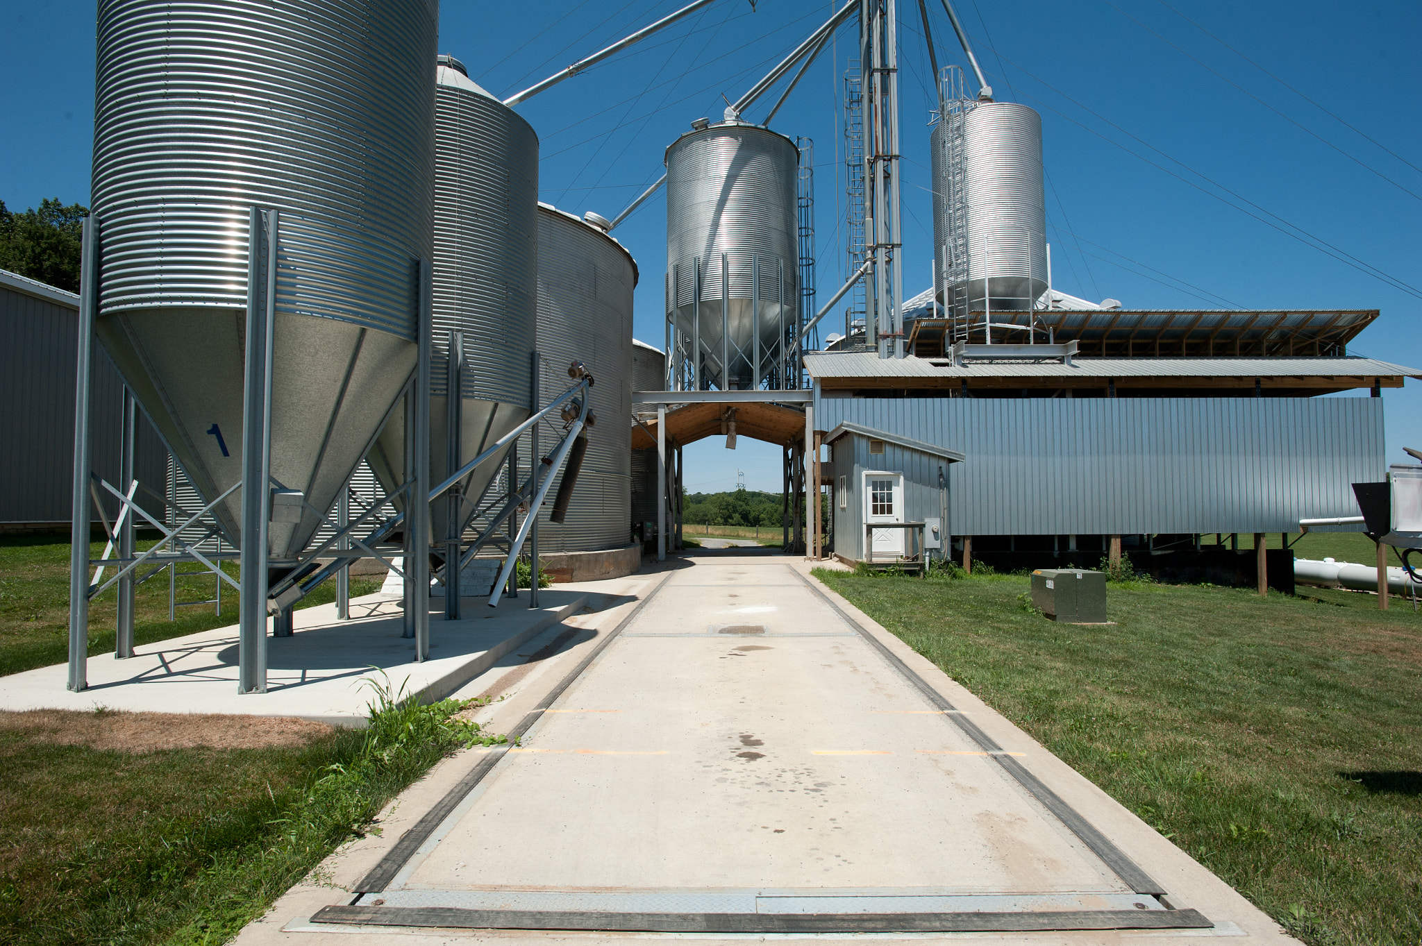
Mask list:
[[[198,493],[242,479],[246,312],[127,310],[98,320],[100,341]],[[272,357],[272,476],[328,513],[415,368],[412,341],[334,318],[277,312]],[[242,491],[213,513],[242,541]],[[269,554],[296,557],[320,526],[272,523]]]

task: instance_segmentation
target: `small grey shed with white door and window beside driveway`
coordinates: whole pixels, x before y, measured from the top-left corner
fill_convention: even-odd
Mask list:
[[[924,523],[924,550],[941,557],[953,531],[948,464],[961,463],[963,453],[849,422],[830,430],[823,442],[829,445],[829,460],[820,464],[820,476],[830,486],[830,523],[839,558],[865,561],[866,530],[876,521]],[[880,561],[913,548],[903,528],[876,528],[872,541]]]

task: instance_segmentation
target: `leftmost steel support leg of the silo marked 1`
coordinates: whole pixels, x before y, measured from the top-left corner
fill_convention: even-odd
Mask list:
[[[74,344],[74,491],[70,506],[70,679],[75,693],[88,689],[90,558],[90,358],[98,312],[98,219],[84,219],[80,263],[80,315]]]

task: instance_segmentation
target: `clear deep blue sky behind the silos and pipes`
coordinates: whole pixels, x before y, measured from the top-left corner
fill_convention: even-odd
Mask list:
[[[439,45],[509,95],[678,6],[445,0]],[[542,139],[542,199],[614,216],[656,180],[664,148],[694,118],[718,116],[722,94],[738,98],[830,11],[714,3],[523,102]],[[961,64],[941,4],[930,13],[940,65]],[[958,13],[997,98],[1042,112],[1059,288],[1128,308],[1378,308],[1349,351],[1422,368],[1422,6],[960,0]],[[11,209],[47,196],[87,203],[94,3],[16,3],[0,16],[0,199]],[[917,4],[900,0],[900,17],[904,290],[916,293],[931,259],[931,78]],[[815,141],[822,294],[843,270],[840,84],[853,53],[850,23],[772,124]],[[616,236],[641,270],[637,335],[660,347],[664,202]],[[1389,462],[1422,447],[1419,392],[1422,382],[1384,392]],[[732,489],[738,469],[751,489],[779,489],[766,445],[742,439],[732,453],[711,439],[687,459],[693,490]]]

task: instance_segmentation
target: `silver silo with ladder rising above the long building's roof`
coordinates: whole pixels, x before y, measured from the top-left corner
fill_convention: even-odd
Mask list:
[[[1028,311],[1047,291],[1041,116],[1017,102],[947,105],[931,148],[940,298],[960,317]]]

